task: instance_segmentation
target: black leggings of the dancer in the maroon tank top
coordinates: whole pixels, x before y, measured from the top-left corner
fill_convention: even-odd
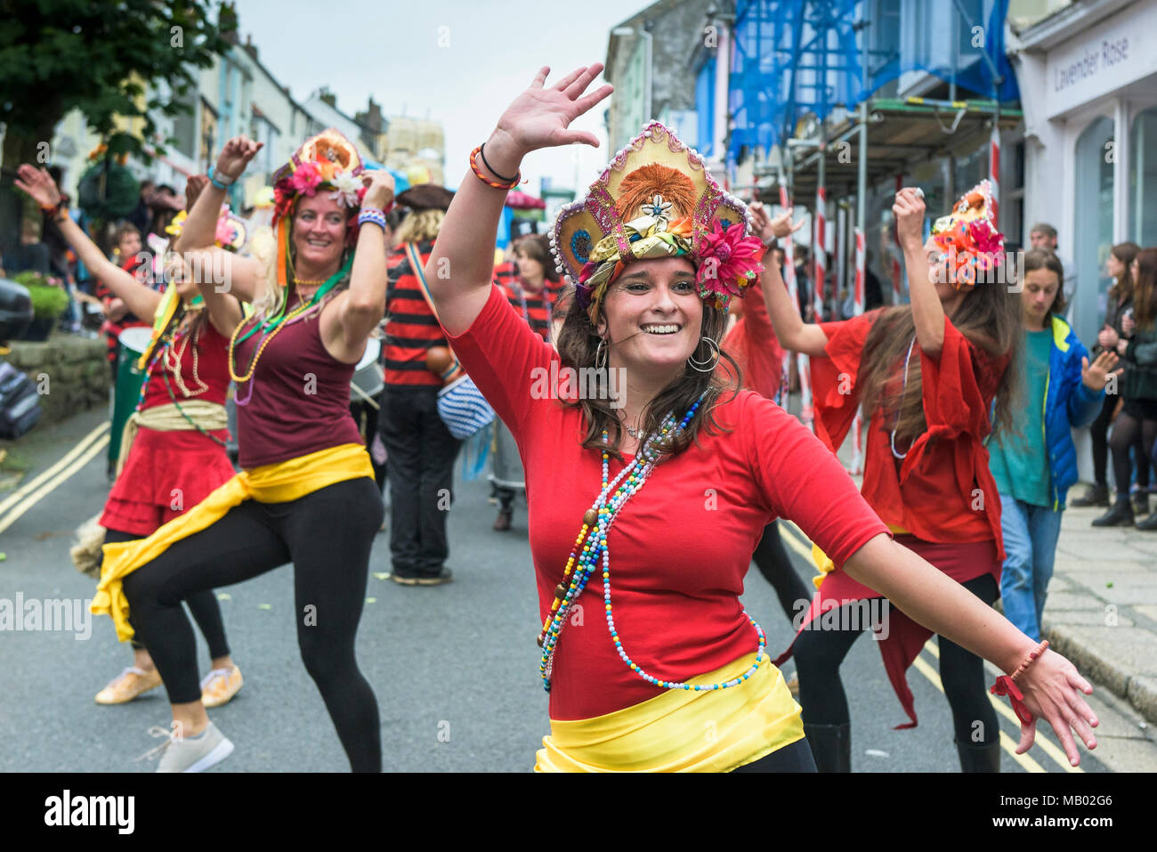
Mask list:
[[[358,668],[354,640],[366,601],[382,495],[360,477],[300,500],[246,500],[125,578],[145,646],[172,704],[200,700],[197,642],[180,601],[293,561],[297,645],[355,772],[382,769],[377,699]]]

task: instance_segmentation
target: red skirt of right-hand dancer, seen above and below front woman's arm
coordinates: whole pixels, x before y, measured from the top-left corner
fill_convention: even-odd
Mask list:
[[[942,544],[927,542],[913,535],[897,535],[896,542],[902,544],[918,556],[923,557],[923,559],[935,565],[957,582],[963,583],[985,574],[992,574],[996,580],[996,588],[1000,589],[1001,587],[1001,560],[997,557],[996,542],[993,539],[987,542]],[[811,600],[811,608],[804,616],[801,632],[806,630],[812,620],[828,610],[837,609],[852,601],[867,601],[876,597],[883,597],[883,595],[863,583],[856,582],[843,573],[843,571],[832,571],[824,578],[824,582],[820,583],[816,596]],[[887,670],[887,678],[892,682],[892,689],[896,690],[896,697],[900,699],[904,712],[912,720],[896,727],[898,729],[914,728],[918,722],[916,711],[906,675],[908,667],[912,666],[913,660],[920,654],[920,649],[928,641],[928,638],[931,637],[933,632],[928,627],[908,618],[908,616],[904,615],[896,607],[891,607],[887,618],[887,638],[879,639],[879,653],[884,658],[884,668]],[[797,638],[798,636],[799,633],[796,633]],[[791,656],[794,647],[795,640],[775,660],[775,664],[780,666],[783,661],[788,660]]]

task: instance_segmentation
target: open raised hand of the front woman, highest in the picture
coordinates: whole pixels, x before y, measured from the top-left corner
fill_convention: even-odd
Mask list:
[[[569,130],[569,125],[614,90],[606,85],[590,95],[583,95],[603,71],[603,65],[595,63],[576,68],[554,86],[546,87],[550,71],[545,66],[539,68],[530,88],[518,95],[499,118],[495,134],[504,135],[519,157],[539,148],[575,142],[598,147],[594,133]]]

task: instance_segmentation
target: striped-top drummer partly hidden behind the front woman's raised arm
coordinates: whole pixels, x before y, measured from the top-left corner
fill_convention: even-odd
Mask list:
[[[496,281],[535,333],[551,343],[553,306],[558,302],[560,279],[551,259],[551,243],[541,234],[528,234],[515,243],[514,258],[517,274],[496,278]],[[518,492],[526,492],[526,480],[518,457],[518,445],[501,420],[494,424],[491,483],[499,500],[499,516],[494,520],[494,529],[502,532],[510,529],[514,499]]]

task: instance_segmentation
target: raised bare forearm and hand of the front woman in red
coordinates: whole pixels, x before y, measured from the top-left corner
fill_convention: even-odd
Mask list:
[[[577,68],[546,88],[550,68],[540,68],[530,88],[511,103],[486,141],[489,171],[495,183],[518,174],[522,159],[538,148],[583,144],[598,147],[594,134],[568,130],[570,123],[611,94],[610,86],[583,96],[603,66]],[[441,235],[426,265],[426,280],[442,325],[451,336],[466,331],[489,299],[494,274],[494,243],[506,191],[494,189],[467,171],[450,201]]]

